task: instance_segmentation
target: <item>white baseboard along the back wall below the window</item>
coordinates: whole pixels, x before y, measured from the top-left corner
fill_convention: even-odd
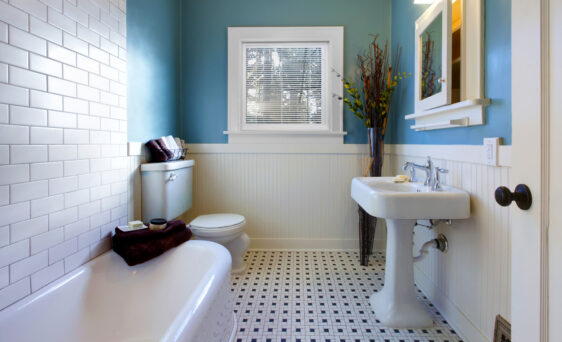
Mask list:
[[[375,240],[374,249],[383,250],[385,241]],[[250,249],[359,250],[357,239],[275,239],[250,237]]]

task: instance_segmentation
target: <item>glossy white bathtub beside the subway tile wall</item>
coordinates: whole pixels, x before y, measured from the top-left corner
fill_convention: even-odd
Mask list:
[[[231,259],[188,241],[137,266],[109,251],[0,312],[0,341],[229,341]]]

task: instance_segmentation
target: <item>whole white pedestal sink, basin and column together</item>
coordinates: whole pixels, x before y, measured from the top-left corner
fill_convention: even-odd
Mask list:
[[[394,183],[392,177],[357,177],[351,197],[370,215],[386,219],[384,287],[369,299],[375,315],[392,328],[431,327],[433,320],[414,288],[414,224],[419,219],[468,218],[468,193],[448,186],[431,191],[422,183]]]

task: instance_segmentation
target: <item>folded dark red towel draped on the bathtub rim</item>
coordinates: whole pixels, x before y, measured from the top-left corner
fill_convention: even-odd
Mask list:
[[[191,239],[191,235],[191,230],[182,220],[170,221],[162,230],[145,228],[125,232],[115,228],[113,250],[125,259],[129,266],[133,266],[181,245]]]

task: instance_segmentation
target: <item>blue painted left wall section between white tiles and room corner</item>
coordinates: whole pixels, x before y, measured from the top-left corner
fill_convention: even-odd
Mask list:
[[[179,135],[180,0],[127,4],[129,141]]]

